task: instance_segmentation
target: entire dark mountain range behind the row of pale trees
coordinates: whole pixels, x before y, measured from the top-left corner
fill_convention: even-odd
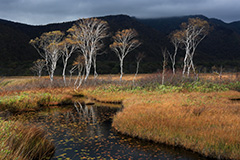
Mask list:
[[[142,45],[127,55],[124,61],[125,73],[134,73],[138,52],[144,52],[146,57],[140,64],[140,72],[156,72],[161,69],[161,48],[167,47],[170,51],[173,46],[168,35],[179,29],[182,22],[188,18],[199,17],[207,20],[213,27],[209,35],[200,43],[196,50],[194,62],[199,68],[224,66],[237,70],[240,67],[240,21],[225,23],[218,19],[209,19],[203,15],[137,19],[127,15],[98,17],[108,22],[110,36],[105,39],[104,54],[97,57],[98,73],[118,73],[119,61],[114,52],[109,49],[112,43],[111,36],[118,30],[134,28]],[[32,75],[29,70],[32,62],[41,58],[29,41],[39,37],[44,32],[61,30],[66,32],[76,21],[32,26],[0,20],[0,76]],[[182,64],[183,51],[177,55],[177,65]],[[69,66],[75,54],[71,57]],[[56,74],[61,73],[62,62],[58,62]]]

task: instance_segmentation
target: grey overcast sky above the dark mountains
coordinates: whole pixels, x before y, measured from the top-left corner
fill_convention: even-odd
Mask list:
[[[137,18],[203,14],[232,22],[240,20],[240,0],[0,0],[1,19],[34,25],[116,14]]]

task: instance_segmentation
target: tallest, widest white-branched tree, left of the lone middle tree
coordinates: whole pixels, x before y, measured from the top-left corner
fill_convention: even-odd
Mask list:
[[[103,47],[102,39],[107,37],[108,24],[106,21],[97,18],[79,20],[68,30],[76,38],[77,45],[85,59],[85,78],[86,81],[93,61],[98,51]],[[96,57],[95,59],[96,60]]]

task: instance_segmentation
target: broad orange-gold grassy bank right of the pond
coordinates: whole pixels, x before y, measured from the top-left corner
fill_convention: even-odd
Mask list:
[[[208,157],[240,159],[240,93],[226,85],[195,87],[129,90],[108,86],[84,94],[102,101],[122,100],[125,108],[113,120],[121,133]]]

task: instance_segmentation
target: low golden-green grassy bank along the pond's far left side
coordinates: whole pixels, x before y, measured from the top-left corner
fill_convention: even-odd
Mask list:
[[[52,105],[72,104],[69,89],[42,89],[11,92],[0,96],[0,111],[11,113],[37,111]]]

